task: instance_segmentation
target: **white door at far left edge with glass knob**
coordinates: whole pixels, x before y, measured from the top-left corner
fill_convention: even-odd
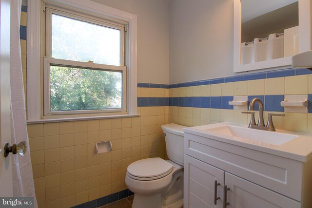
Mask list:
[[[0,196],[13,196],[12,154],[3,148],[11,140],[10,120],[10,0],[0,0]]]

